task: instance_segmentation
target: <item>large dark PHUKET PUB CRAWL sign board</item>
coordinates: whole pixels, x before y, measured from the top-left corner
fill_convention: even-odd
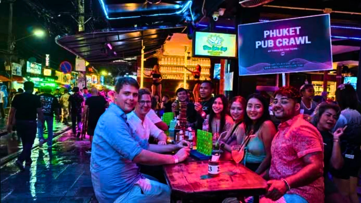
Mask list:
[[[238,26],[239,75],[332,70],[330,15]]]

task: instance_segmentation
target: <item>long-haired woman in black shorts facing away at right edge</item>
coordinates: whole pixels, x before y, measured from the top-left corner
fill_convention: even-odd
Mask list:
[[[358,98],[355,89],[350,84],[337,87],[336,100],[341,108],[341,115],[334,130],[345,128],[340,137],[341,152],[344,165],[341,169],[331,169],[334,182],[340,193],[351,203],[358,202],[357,176],[361,167],[361,115],[356,110]]]

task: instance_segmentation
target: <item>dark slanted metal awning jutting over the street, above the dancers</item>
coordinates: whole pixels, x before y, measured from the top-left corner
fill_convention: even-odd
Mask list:
[[[112,62],[142,51],[148,55],[161,48],[170,29],[106,30],[78,35],[58,36],[55,41],[88,62]]]

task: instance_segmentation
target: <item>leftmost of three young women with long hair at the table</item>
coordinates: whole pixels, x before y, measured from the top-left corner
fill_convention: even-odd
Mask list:
[[[227,98],[225,95],[217,95],[214,97],[212,109],[207,116],[209,132],[213,133],[213,140],[231,128],[233,119],[228,115]]]

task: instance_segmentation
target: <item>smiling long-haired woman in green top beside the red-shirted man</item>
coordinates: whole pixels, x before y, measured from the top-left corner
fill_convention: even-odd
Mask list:
[[[247,98],[246,114],[237,137],[238,144],[244,144],[245,166],[258,174],[269,168],[271,163],[271,142],[276,128],[268,111],[269,102],[260,94]]]

